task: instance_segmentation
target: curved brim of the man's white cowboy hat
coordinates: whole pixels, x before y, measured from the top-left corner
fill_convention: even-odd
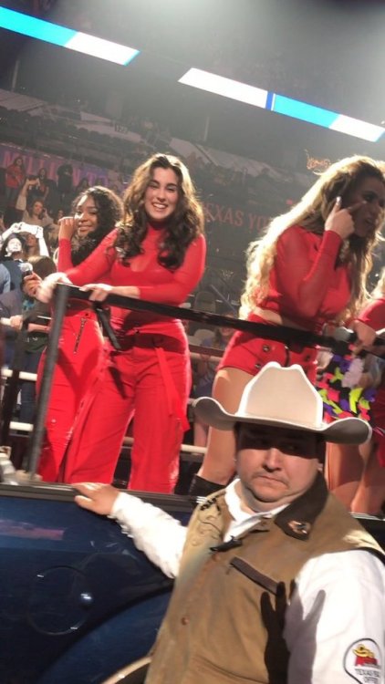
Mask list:
[[[201,397],[196,399],[192,407],[195,416],[207,425],[217,430],[233,430],[235,423],[251,423],[254,425],[269,425],[273,428],[286,428],[291,430],[305,430],[322,435],[325,441],[336,444],[362,444],[371,437],[369,423],[359,418],[341,418],[332,423],[322,423],[319,427],[309,426],[303,423],[294,423],[289,420],[274,420],[265,417],[237,415],[228,413],[216,399]]]

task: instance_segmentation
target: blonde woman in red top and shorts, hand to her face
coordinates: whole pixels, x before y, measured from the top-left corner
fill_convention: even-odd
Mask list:
[[[354,156],[332,164],[296,206],[276,217],[265,236],[250,245],[241,316],[314,332],[354,316],[366,295],[384,198],[380,162]],[[213,398],[236,411],[246,383],[268,361],[297,363],[314,381],[316,356],[315,348],[298,351],[237,332],[218,367]],[[234,452],[231,432],[210,430],[190,492],[207,495],[224,486],[234,474]]]

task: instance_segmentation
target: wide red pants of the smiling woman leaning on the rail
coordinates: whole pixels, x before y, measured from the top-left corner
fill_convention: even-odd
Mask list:
[[[111,482],[122,440],[135,412],[129,488],[172,492],[191,386],[187,345],[137,334],[122,352],[109,349],[74,429],[65,482]],[[164,339],[164,338],[162,338]],[[155,340],[155,344],[151,342]]]

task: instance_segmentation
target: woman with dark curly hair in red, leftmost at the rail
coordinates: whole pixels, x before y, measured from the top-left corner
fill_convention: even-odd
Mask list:
[[[115,227],[123,214],[120,198],[96,186],[78,195],[74,215],[59,225],[57,268],[81,264]],[[64,455],[82,399],[98,373],[103,337],[95,312],[82,302],[70,302],[61,330],[57,367],[47,408],[46,436],[38,472],[47,482],[63,481]],[[37,372],[37,388],[44,357]]]

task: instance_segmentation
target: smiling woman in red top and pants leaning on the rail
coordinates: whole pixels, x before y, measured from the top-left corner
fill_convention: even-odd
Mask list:
[[[181,305],[205,258],[203,209],[182,161],[155,154],[141,164],[124,210],[122,225],[68,279],[87,285],[97,301],[116,294]],[[111,482],[135,413],[129,487],[172,492],[191,386],[184,328],[179,319],[118,307],[111,308],[111,326],[121,351],[107,343],[74,429],[65,482]]]

